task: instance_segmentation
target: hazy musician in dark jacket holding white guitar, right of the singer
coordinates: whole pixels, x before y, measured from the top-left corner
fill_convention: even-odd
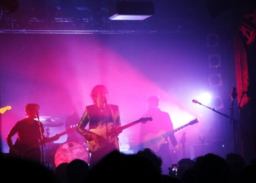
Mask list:
[[[142,124],[140,128],[140,149],[144,147],[145,137],[148,134],[156,134],[157,137],[160,130],[165,132],[170,132],[173,130],[172,121],[167,112],[163,112],[158,108],[159,98],[157,96],[150,96],[148,98],[148,107],[149,110],[144,116],[152,116],[153,121],[151,123]],[[153,137],[153,136],[152,136]],[[168,136],[172,145],[179,150],[180,146],[178,145],[174,134]],[[149,140],[149,139],[148,139]],[[171,167],[171,157],[169,152],[169,142],[166,138],[160,148],[155,152],[156,155],[160,156],[163,160],[162,162],[162,173],[168,175],[168,167]]]

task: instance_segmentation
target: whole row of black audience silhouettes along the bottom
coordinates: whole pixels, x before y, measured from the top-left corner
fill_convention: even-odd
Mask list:
[[[119,151],[108,153],[92,169],[88,164],[75,159],[62,163],[55,173],[48,167],[30,160],[0,157],[2,179],[26,183],[255,183],[256,164],[252,159],[245,166],[242,156],[228,153],[226,159],[208,153],[194,160],[178,161],[178,175],[162,175],[162,159],[152,150],[143,149],[135,155]],[[170,165],[171,166],[171,165]]]

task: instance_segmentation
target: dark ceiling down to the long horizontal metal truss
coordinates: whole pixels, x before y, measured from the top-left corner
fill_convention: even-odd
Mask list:
[[[110,20],[108,9],[116,0],[18,0],[16,12],[0,10],[1,33],[174,33],[230,27],[234,1],[151,0],[154,15],[145,20]],[[131,1],[129,1],[131,2]],[[140,2],[146,2],[140,1]],[[231,3],[232,2],[232,3]],[[250,3],[249,3],[250,2]],[[254,3],[255,4],[255,3]],[[238,6],[236,6],[238,7]]]

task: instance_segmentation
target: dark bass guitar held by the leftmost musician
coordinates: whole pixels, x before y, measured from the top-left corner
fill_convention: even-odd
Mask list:
[[[63,136],[65,134],[71,133],[75,130],[76,130],[76,127],[68,128],[65,132],[62,132],[62,133],[56,134],[56,135],[60,137],[60,136]],[[52,137],[46,139],[44,142],[45,143],[52,142],[52,141],[54,141],[55,138],[56,138],[56,136],[52,136]],[[35,148],[41,146],[42,144],[43,144],[42,142],[38,142],[38,143],[32,144],[32,145],[17,143],[17,144],[14,144],[13,146],[14,146],[15,150],[17,150],[19,152],[20,157],[23,157],[24,155],[31,152]],[[15,155],[15,153],[11,149],[9,150],[9,153],[12,154],[12,155]]]

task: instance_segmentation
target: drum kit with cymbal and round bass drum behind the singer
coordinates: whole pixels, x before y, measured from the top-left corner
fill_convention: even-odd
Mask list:
[[[59,118],[51,116],[40,116],[40,122],[42,122],[44,126],[46,137],[50,136],[49,127],[60,127],[65,124]],[[86,143],[81,142],[50,142],[44,147],[44,159],[45,163],[52,167],[57,167],[61,163],[69,163],[74,159],[82,159],[88,163],[88,147]]]

